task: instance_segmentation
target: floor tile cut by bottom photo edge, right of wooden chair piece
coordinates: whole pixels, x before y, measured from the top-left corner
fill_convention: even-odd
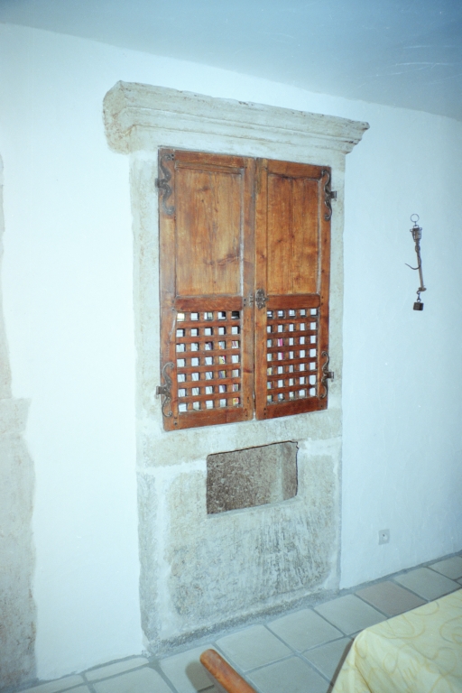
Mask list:
[[[276,661],[246,678],[262,693],[327,693],[328,681],[298,657]]]

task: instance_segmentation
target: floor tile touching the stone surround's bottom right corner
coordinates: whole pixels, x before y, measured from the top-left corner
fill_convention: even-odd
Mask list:
[[[315,609],[347,635],[385,620],[383,614],[355,595],[338,596],[337,599],[315,606]]]

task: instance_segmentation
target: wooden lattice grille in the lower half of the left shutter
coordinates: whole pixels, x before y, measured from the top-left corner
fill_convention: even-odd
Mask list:
[[[241,312],[178,312],[178,411],[242,407]]]

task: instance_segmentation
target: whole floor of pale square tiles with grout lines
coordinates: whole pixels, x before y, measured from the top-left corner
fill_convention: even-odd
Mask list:
[[[161,659],[132,657],[23,693],[217,693],[199,663],[220,651],[259,693],[328,693],[352,639],[369,625],[460,589],[462,557],[348,590],[313,608],[268,618]]]

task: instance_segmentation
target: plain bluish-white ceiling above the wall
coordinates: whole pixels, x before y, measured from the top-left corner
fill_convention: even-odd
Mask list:
[[[0,0],[0,22],[462,120],[462,0]]]

